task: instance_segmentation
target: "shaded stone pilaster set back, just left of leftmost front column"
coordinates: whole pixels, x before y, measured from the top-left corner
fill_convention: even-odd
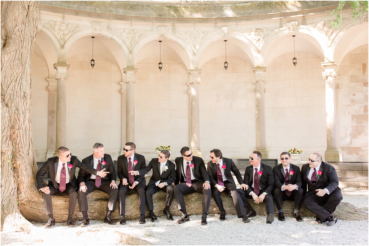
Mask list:
[[[56,136],[56,85],[57,82],[54,78],[46,78],[49,85],[46,90],[48,95],[48,141],[46,159],[54,157],[55,154],[55,136]]]

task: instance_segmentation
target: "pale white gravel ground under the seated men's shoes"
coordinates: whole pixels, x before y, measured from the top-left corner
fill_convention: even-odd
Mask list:
[[[367,189],[347,187],[342,193],[343,201],[368,210]],[[112,226],[90,221],[85,228],[68,228],[65,223],[57,223],[45,229],[44,223],[33,223],[35,227],[29,233],[1,232],[1,245],[124,245],[118,242],[117,236],[107,237],[108,232],[90,232],[94,229],[127,233],[154,245],[368,245],[367,220],[339,220],[328,227],[311,217],[303,218],[302,222],[296,222],[293,217],[286,217],[283,222],[275,218],[271,225],[261,216],[253,217],[247,224],[235,215],[226,217],[225,221],[220,221],[218,215],[208,215],[208,225],[200,225],[200,215],[191,215],[190,221],[182,225],[175,223],[179,217],[174,217],[175,221],[159,217],[154,223],[146,219],[144,225],[137,220]],[[80,223],[77,221],[76,225]]]

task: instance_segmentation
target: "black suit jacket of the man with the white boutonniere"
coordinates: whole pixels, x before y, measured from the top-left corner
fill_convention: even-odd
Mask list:
[[[174,182],[176,176],[176,165],[171,162],[167,161],[165,166],[168,167],[168,170],[160,173],[160,165],[159,158],[152,158],[149,165],[147,165],[144,169],[138,170],[140,175],[145,175],[152,169],[152,176],[150,178],[149,185],[154,185],[156,182],[160,180],[160,183],[166,182],[168,185]]]

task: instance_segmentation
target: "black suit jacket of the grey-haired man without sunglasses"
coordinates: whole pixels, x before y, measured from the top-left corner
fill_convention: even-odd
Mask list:
[[[100,169],[104,169],[105,168],[105,172],[109,172],[107,173],[107,175],[104,178],[101,178],[101,180],[109,180],[109,181],[116,181],[117,180],[117,173],[115,173],[115,168],[114,168],[114,163],[113,163],[113,159],[111,159],[111,156],[108,154],[104,154],[104,157],[101,158],[101,162],[105,161],[106,164],[105,165],[101,165]],[[85,159],[82,160],[82,163],[85,164],[86,166],[92,167],[93,168],[93,154],[90,155],[89,157],[86,157]],[[78,184],[82,183],[82,182],[87,182],[89,179],[91,178],[91,174],[87,173],[85,170],[80,170],[78,172],[78,177],[77,177],[77,182]]]

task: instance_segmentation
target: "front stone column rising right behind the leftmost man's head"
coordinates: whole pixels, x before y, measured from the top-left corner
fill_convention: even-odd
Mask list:
[[[66,80],[68,79],[66,72],[69,67],[70,64],[54,63],[57,81],[55,155],[59,147],[66,145]]]

